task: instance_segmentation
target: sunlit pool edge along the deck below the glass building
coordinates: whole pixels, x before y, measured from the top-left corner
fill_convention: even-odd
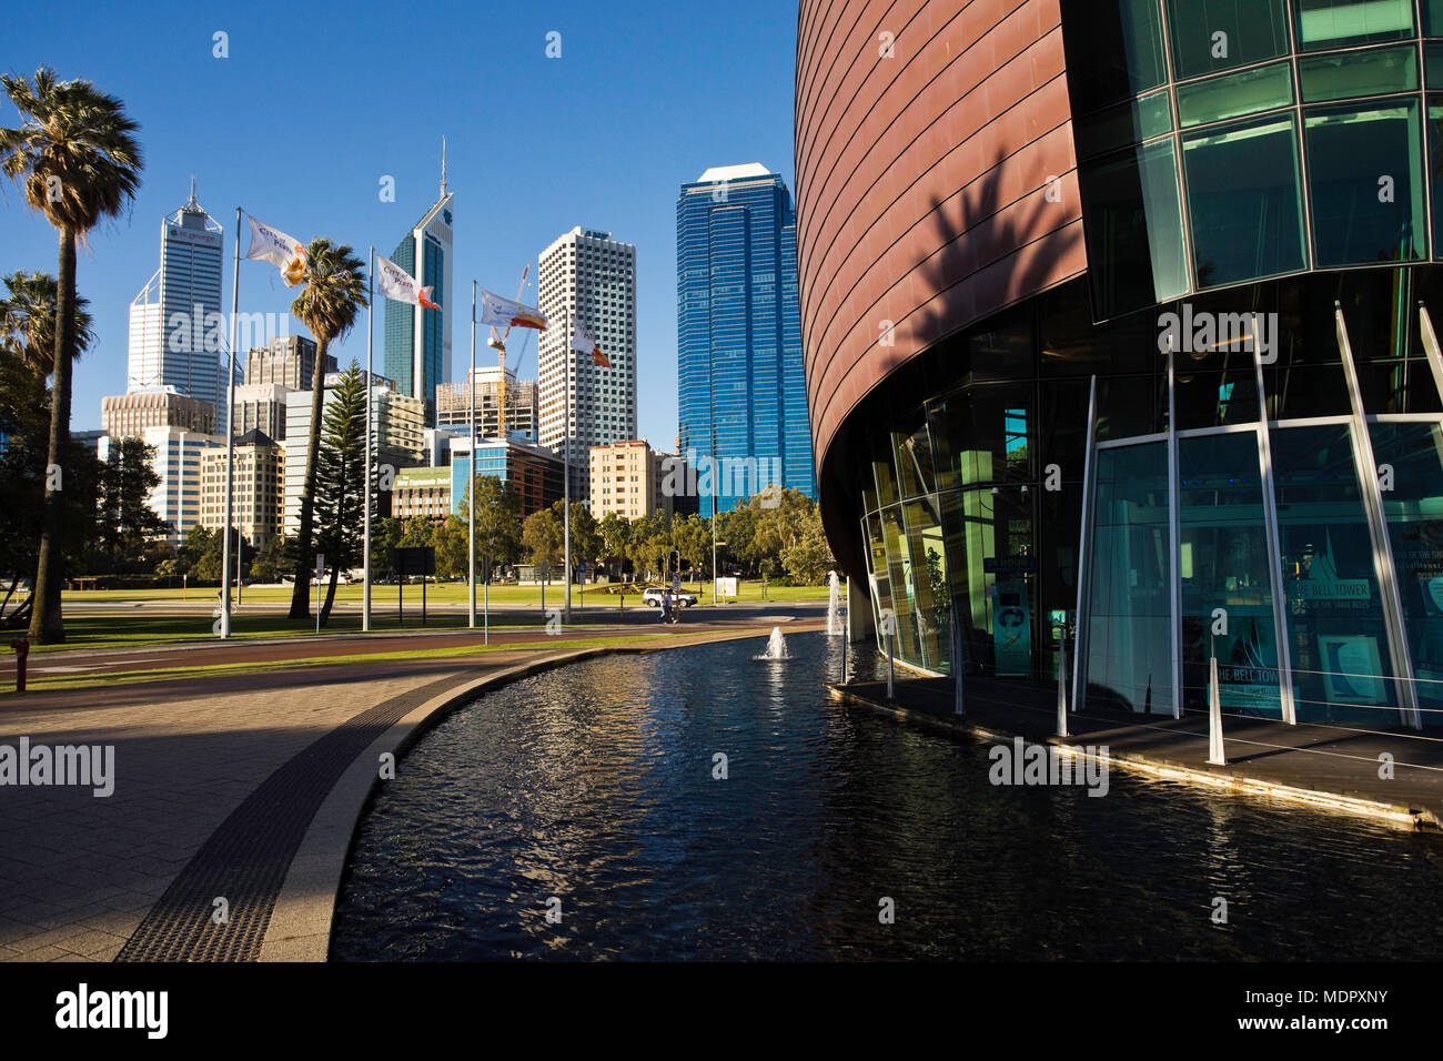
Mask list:
[[[1078,738],[1062,739],[1056,736],[1039,738],[1036,735],[1023,735],[1016,732],[1006,732],[991,726],[984,726],[978,722],[968,720],[967,716],[961,719],[957,717],[939,717],[931,712],[918,710],[909,707],[903,703],[886,700],[877,700],[870,696],[863,696],[854,689],[847,689],[844,686],[828,686],[833,699],[841,703],[854,703],[861,707],[869,707],[876,712],[892,715],[908,722],[922,723],[937,726],[954,735],[971,736],[987,742],[1009,742],[1014,738],[1022,736],[1027,743],[1049,743],[1049,745],[1075,745]],[[1097,755],[1100,761],[1108,764],[1108,767],[1120,767],[1123,769],[1131,771],[1134,774],[1141,774],[1159,781],[1177,781],[1182,784],[1198,785],[1209,788],[1212,791],[1221,791],[1235,795],[1254,795],[1271,800],[1286,800],[1290,803],[1302,803],[1317,810],[1328,810],[1342,814],[1368,817],[1375,821],[1384,821],[1390,826],[1403,830],[1427,830],[1436,831],[1443,829],[1443,821],[1439,816],[1427,808],[1413,808],[1400,804],[1391,804],[1381,800],[1364,800],[1352,795],[1343,795],[1339,793],[1329,793],[1316,788],[1299,788],[1297,785],[1287,785],[1278,781],[1268,781],[1267,778],[1254,777],[1248,774],[1219,774],[1211,769],[1198,769],[1193,767],[1186,767],[1176,762],[1167,762],[1163,759],[1156,759],[1147,755],[1139,755],[1136,752],[1115,754],[1110,752],[1105,755]]]

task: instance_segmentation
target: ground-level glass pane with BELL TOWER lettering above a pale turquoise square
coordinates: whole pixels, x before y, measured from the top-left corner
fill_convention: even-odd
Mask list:
[[[1392,655],[1346,424],[1271,433],[1300,722],[1397,720]]]

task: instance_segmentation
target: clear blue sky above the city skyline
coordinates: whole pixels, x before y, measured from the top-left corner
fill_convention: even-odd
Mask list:
[[[100,427],[101,397],[126,390],[127,307],[159,266],[160,219],[185,202],[192,173],[227,228],[229,310],[237,206],[300,240],[388,254],[436,199],[444,134],[455,299],[466,302],[453,374],[470,358],[472,279],[514,294],[521,267],[531,261],[534,280],[561,232],[610,231],[636,245],[638,429],[670,447],[677,191],[740,162],[794,186],[795,20],[785,0],[12,4],[0,69],[46,64],[94,81],[124,100],[144,149],[133,208],[79,256],[98,341],[76,372],[72,426]],[[216,30],[229,35],[227,59],[212,56]],[[560,59],[545,58],[551,30]],[[17,117],[0,97],[0,124]],[[395,178],[394,204],[380,202],[382,175]],[[53,230],[4,182],[0,273],[55,263]],[[270,266],[241,263],[241,310],[284,312],[293,294]],[[483,342],[478,362],[489,364]],[[522,375],[535,375],[535,349],[530,338]],[[336,352],[364,362],[364,318]]]

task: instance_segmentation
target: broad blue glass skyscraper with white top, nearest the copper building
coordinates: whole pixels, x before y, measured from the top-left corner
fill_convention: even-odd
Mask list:
[[[782,178],[758,162],[716,166],[681,186],[677,398],[681,452],[697,456],[703,489],[711,459],[716,497],[700,498],[701,515],[775,482],[817,497],[797,218]]]

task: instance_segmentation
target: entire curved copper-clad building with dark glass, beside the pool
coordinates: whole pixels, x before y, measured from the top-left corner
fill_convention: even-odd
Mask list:
[[[1439,725],[1440,126],[1439,0],[802,0],[817,488],[879,644]]]

